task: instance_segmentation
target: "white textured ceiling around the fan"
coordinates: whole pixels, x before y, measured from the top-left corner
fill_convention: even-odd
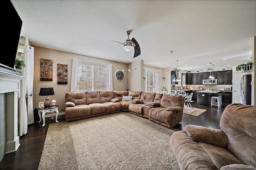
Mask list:
[[[255,0],[11,0],[34,46],[180,70],[247,63]],[[126,31],[141,55],[124,51]],[[174,51],[170,53],[170,51]],[[223,60],[226,59],[226,60]]]

